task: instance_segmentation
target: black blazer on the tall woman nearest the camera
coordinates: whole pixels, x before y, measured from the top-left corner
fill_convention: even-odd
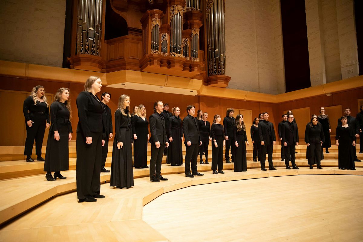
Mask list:
[[[92,93],[82,91],[76,100],[78,108],[77,132],[84,137],[91,137],[91,132],[102,132],[103,103]]]

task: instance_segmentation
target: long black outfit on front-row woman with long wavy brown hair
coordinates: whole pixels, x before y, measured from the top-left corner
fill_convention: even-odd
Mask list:
[[[246,131],[243,129],[241,131],[237,131],[237,127],[234,126],[233,134],[234,134],[234,140],[237,141],[238,143],[238,147],[236,147],[234,153],[234,171],[235,172],[247,171]]]

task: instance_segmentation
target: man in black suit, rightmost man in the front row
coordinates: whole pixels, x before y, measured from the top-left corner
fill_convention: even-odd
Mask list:
[[[299,169],[295,164],[295,145],[299,143],[299,132],[297,124],[293,122],[294,115],[287,115],[287,122],[282,124],[282,142],[285,147],[285,165],[286,169],[291,169],[289,167],[289,160],[291,160],[291,165],[293,169]]]

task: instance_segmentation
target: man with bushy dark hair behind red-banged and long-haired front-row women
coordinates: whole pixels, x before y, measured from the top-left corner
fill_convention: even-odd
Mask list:
[[[225,135],[225,143],[226,143],[226,148],[225,148],[225,160],[226,163],[231,163],[231,161],[229,161],[229,148],[231,148],[231,159],[232,162],[234,162],[234,148],[236,148],[236,146],[234,145],[234,136],[233,136],[233,127],[236,124],[236,119],[233,117],[234,114],[234,109],[233,108],[229,108],[227,110],[226,116],[223,119],[223,126],[224,126],[224,135]],[[213,146],[212,146],[213,147]]]

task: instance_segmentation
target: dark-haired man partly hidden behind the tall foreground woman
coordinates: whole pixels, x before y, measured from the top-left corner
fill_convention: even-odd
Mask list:
[[[109,152],[109,139],[112,138],[112,114],[111,108],[107,106],[107,103],[110,102],[111,94],[110,93],[102,93],[101,102],[104,104],[104,110],[102,113],[102,124],[103,124],[103,133],[102,140],[104,140],[104,145],[102,146],[102,161],[101,161],[101,172],[110,172],[105,168],[107,154]]]

